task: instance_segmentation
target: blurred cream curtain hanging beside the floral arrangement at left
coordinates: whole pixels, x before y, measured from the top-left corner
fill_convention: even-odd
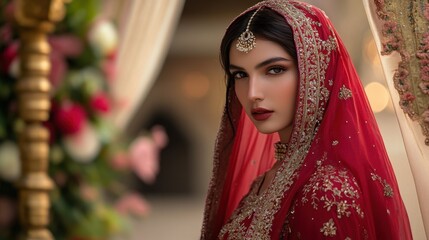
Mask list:
[[[119,15],[118,72],[112,91],[120,106],[114,109],[112,117],[114,124],[124,129],[159,73],[185,1],[107,2],[108,11]]]

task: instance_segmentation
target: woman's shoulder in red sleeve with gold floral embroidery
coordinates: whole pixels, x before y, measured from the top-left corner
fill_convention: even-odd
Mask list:
[[[360,238],[365,236],[362,203],[360,187],[348,169],[320,165],[295,195],[285,227],[292,238]]]

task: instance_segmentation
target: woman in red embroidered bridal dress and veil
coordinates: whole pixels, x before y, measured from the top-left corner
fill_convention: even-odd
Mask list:
[[[260,2],[229,26],[221,60],[227,102],[201,239],[412,238],[376,121],[324,12]]]

